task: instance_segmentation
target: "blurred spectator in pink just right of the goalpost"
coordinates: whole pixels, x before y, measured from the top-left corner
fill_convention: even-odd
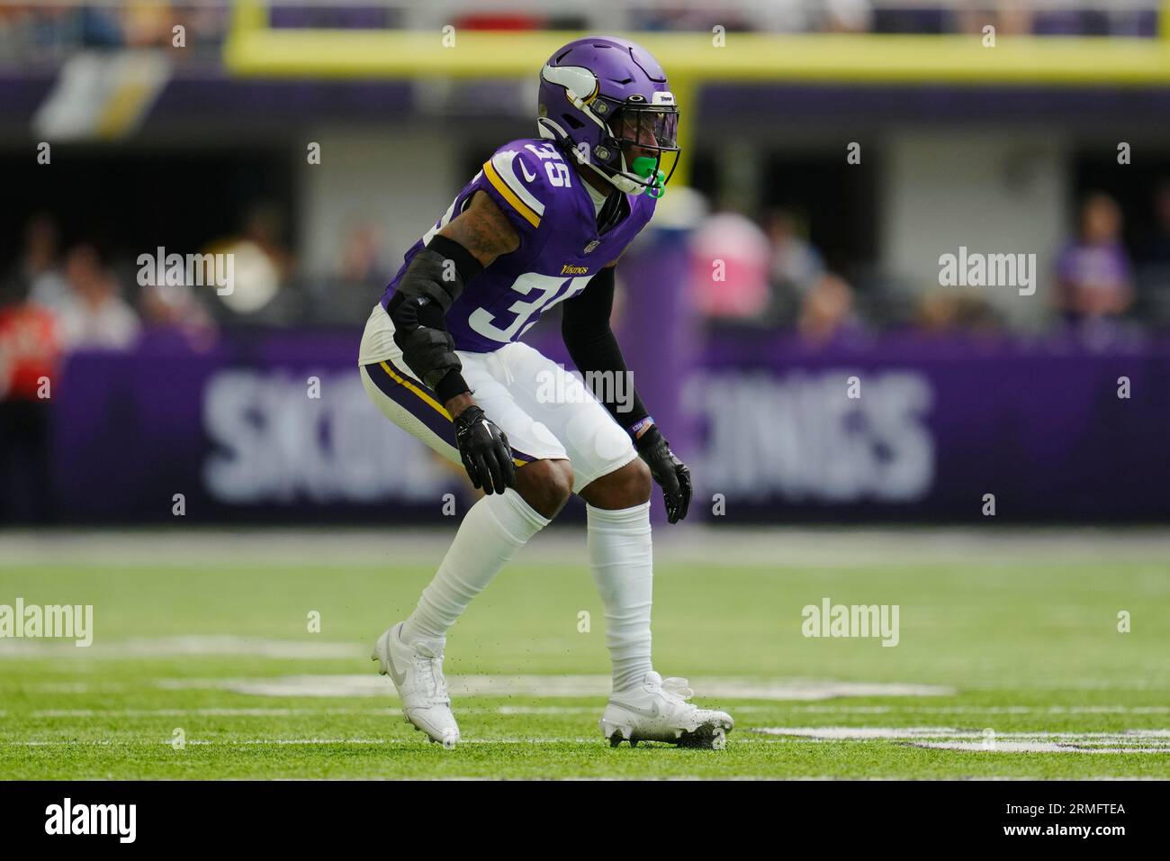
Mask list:
[[[720,212],[690,240],[691,295],[708,319],[766,322],[768,237],[746,216]]]

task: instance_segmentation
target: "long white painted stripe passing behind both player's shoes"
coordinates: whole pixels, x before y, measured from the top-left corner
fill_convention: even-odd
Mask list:
[[[267,697],[397,697],[388,678],[376,674],[278,676],[275,678],[164,678],[165,690],[228,690]],[[835,682],[832,679],[752,679],[695,677],[697,698],[831,699],[835,697],[949,696],[951,688],[922,684]],[[448,676],[447,689],[460,697],[608,697],[610,676]]]

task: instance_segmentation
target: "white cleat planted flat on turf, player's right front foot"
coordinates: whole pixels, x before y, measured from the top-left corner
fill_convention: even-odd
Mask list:
[[[642,683],[610,697],[601,716],[601,732],[610,746],[629,742],[666,742],[680,747],[727,746],[727,733],[735,726],[725,711],[700,709],[687,701],[694,691],[684,678],[662,678],[647,672]]]

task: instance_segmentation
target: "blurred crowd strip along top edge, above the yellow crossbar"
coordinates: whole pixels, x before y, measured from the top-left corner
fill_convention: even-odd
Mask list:
[[[1154,36],[1152,0],[622,0],[590,4],[460,0],[343,0],[274,2],[274,23],[288,27],[413,28],[435,22],[494,29],[709,30],[776,33],[979,33],[991,23],[1010,35]],[[215,46],[228,32],[229,8],[201,1],[131,0],[122,4],[11,2],[0,8],[0,45],[25,56],[61,55],[78,46],[142,47],[171,41],[176,20],[192,45]],[[604,19],[604,20],[599,20]]]

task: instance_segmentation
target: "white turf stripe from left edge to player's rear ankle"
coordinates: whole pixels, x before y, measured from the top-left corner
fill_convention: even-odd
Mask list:
[[[311,635],[305,635],[311,636]],[[199,634],[173,637],[132,638],[113,642],[97,640],[92,645],[77,648],[73,641],[0,640],[0,658],[28,657],[90,657],[142,658],[185,655],[230,655],[240,657],[275,658],[355,658],[367,649],[353,642],[316,640],[266,640],[229,634],[206,636]]]

